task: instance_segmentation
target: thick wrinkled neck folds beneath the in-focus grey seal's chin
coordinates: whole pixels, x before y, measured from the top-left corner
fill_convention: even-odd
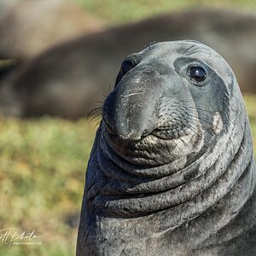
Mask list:
[[[185,168],[183,160],[179,167],[173,163],[151,168],[131,166],[111,151],[102,136],[95,155],[101,178],[97,187],[90,187],[88,197],[103,215],[134,218],[168,209],[176,212],[192,204],[186,219],[195,218],[228,194],[250,169],[252,147],[246,122],[236,124],[230,133],[218,138],[213,149]],[[247,189],[249,195],[252,188]],[[177,224],[175,218],[172,222]]]

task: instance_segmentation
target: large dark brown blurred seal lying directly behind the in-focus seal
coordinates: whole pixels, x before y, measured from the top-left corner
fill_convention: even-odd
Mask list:
[[[217,49],[236,72],[241,91],[256,92],[256,15],[194,9],[110,27],[48,49],[2,79],[0,111],[20,117],[84,116],[108,95],[125,55],[154,41],[177,39]]]

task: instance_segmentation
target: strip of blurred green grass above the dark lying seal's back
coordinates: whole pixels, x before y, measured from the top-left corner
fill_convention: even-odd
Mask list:
[[[254,0],[73,0],[90,14],[109,23],[140,20],[160,13],[189,8],[256,9]]]

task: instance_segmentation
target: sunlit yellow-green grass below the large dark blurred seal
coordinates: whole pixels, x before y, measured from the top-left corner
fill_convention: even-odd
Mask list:
[[[255,100],[245,96],[256,149]],[[0,119],[0,227],[44,236],[41,245],[10,248],[0,240],[0,255],[75,253],[93,126],[85,119]]]

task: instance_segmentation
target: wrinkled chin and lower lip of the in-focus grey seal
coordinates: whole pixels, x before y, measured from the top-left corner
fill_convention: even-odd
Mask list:
[[[155,129],[137,141],[118,137],[108,124],[102,127],[102,137],[115,154],[137,165],[160,166],[186,158],[201,149],[204,139],[200,123],[193,128]]]

